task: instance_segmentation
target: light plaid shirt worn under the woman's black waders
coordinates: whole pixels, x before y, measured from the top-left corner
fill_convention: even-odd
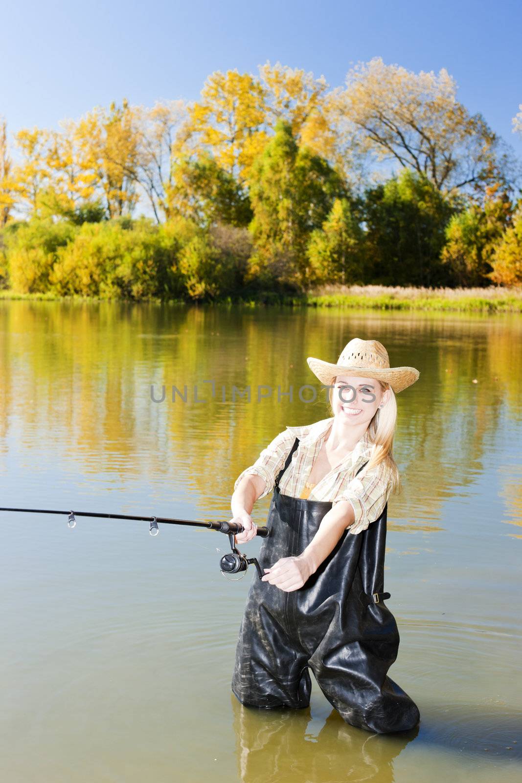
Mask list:
[[[279,489],[283,495],[299,497],[308,480],[311,468],[319,455],[322,443],[329,433],[333,417],[304,424],[302,427],[286,427],[286,430],[261,451],[257,460],[239,474],[234,489],[245,474],[257,474],[265,479],[266,489],[259,498],[272,492],[275,478],[286,462],[295,438],[299,445],[292,455],[292,461],[281,476]],[[369,460],[372,444],[368,431],[355,444],[355,449],[347,454],[337,467],[329,471],[320,482],[311,489],[308,500],[329,500],[333,505],[340,500],[349,500],[355,511],[355,522],[347,525],[351,533],[365,530],[370,522],[380,517],[391,493],[391,477],[383,463],[373,467],[362,478],[355,478],[359,467]],[[364,471],[362,471],[364,473]]]

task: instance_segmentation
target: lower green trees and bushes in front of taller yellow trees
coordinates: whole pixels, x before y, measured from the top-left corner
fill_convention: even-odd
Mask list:
[[[175,217],[160,224],[130,215],[106,220],[99,201],[55,198],[42,188],[38,217],[0,230],[0,287],[20,295],[222,301],[240,294],[268,302],[284,292],[300,301],[303,290],[323,283],[522,284],[520,208],[513,219],[498,186],[483,205],[465,206],[404,170],[355,201],[285,121],[254,159],[248,197],[206,153],[183,160],[170,193]]]

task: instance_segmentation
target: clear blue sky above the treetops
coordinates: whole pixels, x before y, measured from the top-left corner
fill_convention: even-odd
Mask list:
[[[445,67],[471,113],[522,158],[522,2],[12,2],[0,17],[0,115],[9,132],[56,128],[95,105],[196,99],[213,70],[269,60],[342,85],[374,56],[408,70]],[[517,55],[517,51],[519,54]]]

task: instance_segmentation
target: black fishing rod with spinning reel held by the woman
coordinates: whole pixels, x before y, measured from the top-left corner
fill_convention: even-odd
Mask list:
[[[237,574],[242,571],[247,571],[249,565],[255,565],[260,579],[261,576],[263,576],[257,558],[247,557],[246,554],[241,554],[236,548],[234,536],[236,536],[236,533],[242,533],[244,530],[243,525],[239,525],[236,522],[200,522],[193,521],[192,519],[171,519],[168,517],[136,517],[133,514],[98,514],[95,511],[56,511],[55,509],[49,508],[0,508],[0,511],[20,511],[23,514],[67,514],[67,525],[70,528],[76,527],[76,517],[101,517],[105,519],[128,519],[139,522],[149,522],[149,532],[151,536],[157,536],[160,532],[158,522],[160,525],[189,525],[194,528],[217,530],[218,532],[225,533],[226,536],[229,536],[229,543],[232,549],[232,552],[223,555],[219,561],[219,567],[221,568],[223,576],[225,576],[225,574]],[[270,531],[268,528],[257,528],[257,536],[265,538],[269,535]]]

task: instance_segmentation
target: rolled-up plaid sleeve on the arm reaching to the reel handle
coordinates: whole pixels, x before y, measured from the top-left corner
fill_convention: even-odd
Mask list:
[[[347,530],[354,534],[360,533],[378,519],[390,497],[391,488],[390,471],[382,463],[362,478],[352,478],[346,489],[333,501],[335,505],[340,500],[348,500],[354,509],[355,522],[347,525]]]

